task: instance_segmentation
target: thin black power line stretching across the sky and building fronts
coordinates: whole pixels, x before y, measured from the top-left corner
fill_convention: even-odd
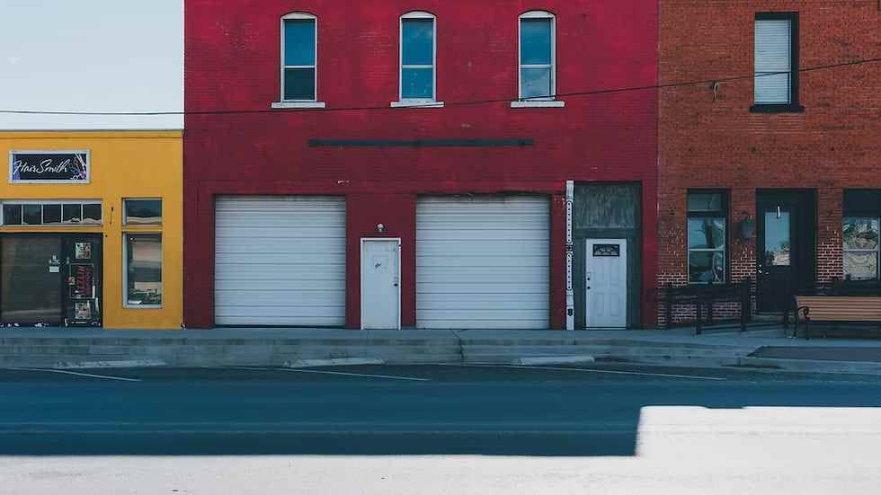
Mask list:
[[[836,68],[845,68],[851,66],[862,66],[866,64],[875,64],[881,62],[881,57],[876,58],[863,58],[859,60],[851,60],[849,62],[840,62],[837,64],[827,64],[823,66],[812,66],[805,67],[802,69],[798,69],[799,73],[808,73],[808,72],[816,72],[822,70],[831,70]],[[652,84],[645,86],[627,86],[620,88],[609,88],[609,89],[601,89],[601,90],[592,90],[592,91],[578,91],[578,92],[570,92],[570,93],[556,93],[544,96],[533,96],[529,98],[522,98],[518,101],[521,102],[529,102],[529,101],[544,101],[548,98],[570,98],[576,96],[592,96],[599,94],[613,94],[613,93],[629,93],[636,91],[648,91],[648,90],[659,90],[659,89],[669,89],[669,88],[678,88],[685,86],[694,86],[694,85],[703,85],[703,84],[716,84],[716,83],[733,83],[737,81],[745,81],[749,79],[754,79],[756,77],[767,77],[770,75],[781,75],[781,74],[789,74],[788,71],[781,72],[771,72],[761,75],[736,75],[732,77],[722,77],[717,79],[701,79],[701,80],[693,80],[693,81],[684,81],[680,83],[669,83],[669,84]],[[511,98],[497,98],[491,100],[472,100],[472,101],[463,101],[463,102],[444,102],[444,106],[466,106],[466,105],[481,105],[488,103],[502,103],[502,102],[511,102]],[[404,108],[432,108],[436,103],[427,102],[423,105],[414,104],[408,105]],[[65,111],[65,110],[0,110],[0,114],[15,114],[15,115],[80,115],[80,116],[130,116],[130,117],[153,117],[153,116],[163,116],[163,115],[235,115],[235,114],[258,114],[258,113],[280,113],[286,111],[320,111],[322,113],[328,111],[362,111],[362,110],[400,110],[400,109],[391,109],[390,106],[374,106],[374,107],[337,107],[337,108],[325,108],[325,109],[259,109],[259,110],[191,110],[191,111]]]

